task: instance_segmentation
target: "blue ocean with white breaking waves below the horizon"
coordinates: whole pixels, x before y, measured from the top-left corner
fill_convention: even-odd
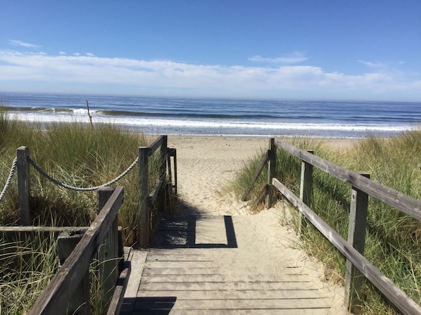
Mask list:
[[[421,127],[421,103],[275,101],[0,92],[10,117],[27,122],[111,123],[177,136],[395,136]]]

